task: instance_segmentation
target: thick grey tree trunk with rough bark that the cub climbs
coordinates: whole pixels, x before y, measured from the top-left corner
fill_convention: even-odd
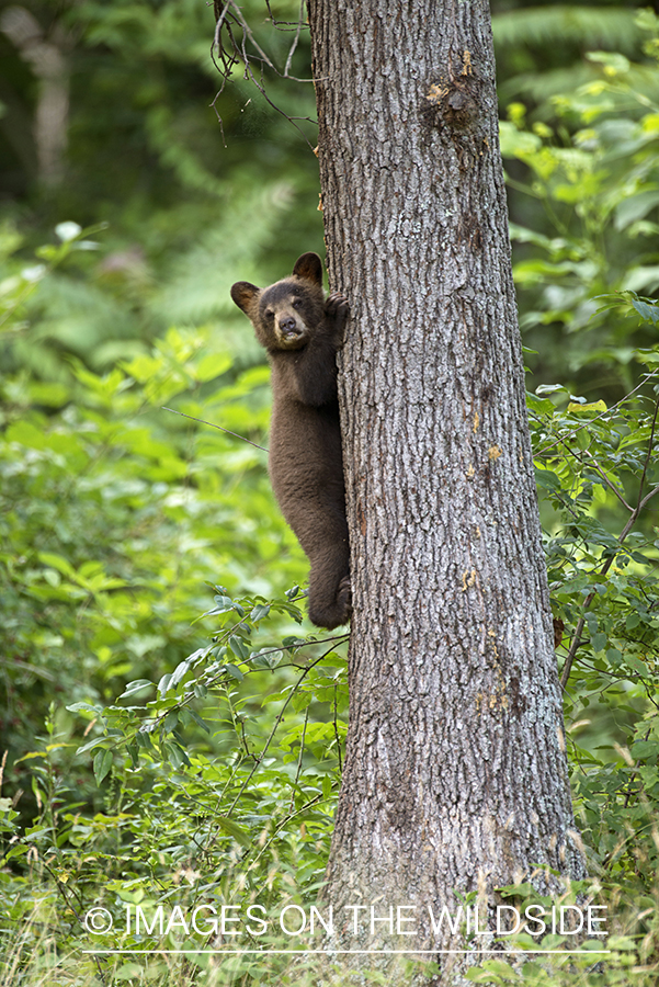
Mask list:
[[[325,894],[350,928],[345,905],[416,905],[406,945],[439,949],[428,906],[455,892],[491,909],[536,864],[584,876],[489,7],[310,0],[309,22],[330,285],[352,313],[350,729]],[[350,928],[338,946],[376,948]]]

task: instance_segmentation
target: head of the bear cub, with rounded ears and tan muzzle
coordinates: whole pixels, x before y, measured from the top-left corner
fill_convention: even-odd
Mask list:
[[[266,288],[238,281],[231,287],[231,298],[250,319],[269,353],[302,350],[323,316],[322,262],[317,253],[303,253],[291,276]]]

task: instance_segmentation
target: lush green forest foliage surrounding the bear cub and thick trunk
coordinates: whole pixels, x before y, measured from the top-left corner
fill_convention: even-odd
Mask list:
[[[284,73],[295,30],[275,29],[261,0],[241,7]],[[489,961],[471,979],[649,985],[659,23],[634,4],[519,8],[495,4],[493,27],[514,100],[501,127],[514,273],[537,351],[530,421],[593,878],[577,890],[609,905],[616,938],[603,965]],[[304,963],[274,954],[143,966],[81,951],[98,904],[115,929],[96,944],[194,949],[208,935],[123,934],[126,906],[308,907],[325,869],[344,639],[300,625],[306,561],[255,447],[268,370],[228,294],[321,248],[313,127],[292,126],[238,67],[215,104],[223,143],[201,0],[21,9],[22,36],[64,60],[70,110],[48,171],[33,125],[50,83],[3,14],[0,984],[304,983]],[[307,77],[308,60],[303,31],[289,73]],[[308,83],[265,79],[281,110],[314,116]]]

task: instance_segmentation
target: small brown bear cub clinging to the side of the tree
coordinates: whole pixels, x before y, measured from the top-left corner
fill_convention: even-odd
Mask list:
[[[332,629],[351,614],[350,548],[337,397],[337,350],[349,314],[325,298],[322,263],[303,253],[266,288],[239,281],[231,298],[250,318],[272,365],[270,478],[311,564],[309,617]]]

